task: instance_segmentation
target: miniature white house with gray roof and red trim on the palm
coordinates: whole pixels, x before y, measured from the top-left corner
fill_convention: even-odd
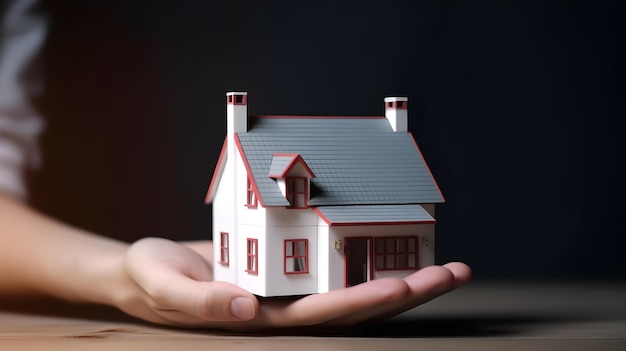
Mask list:
[[[434,263],[444,199],[407,130],[407,98],[385,98],[381,117],[249,117],[246,93],[226,100],[206,195],[215,280],[303,295]]]

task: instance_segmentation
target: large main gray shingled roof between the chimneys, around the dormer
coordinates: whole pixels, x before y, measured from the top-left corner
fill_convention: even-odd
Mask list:
[[[312,206],[444,201],[410,135],[385,118],[257,118],[238,136],[265,206],[289,205],[268,177],[275,153],[315,173]]]

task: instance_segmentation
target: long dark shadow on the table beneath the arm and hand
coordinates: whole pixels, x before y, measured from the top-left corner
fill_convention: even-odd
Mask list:
[[[0,299],[0,310],[26,315],[67,317],[85,321],[112,323],[131,323],[142,326],[155,325],[128,316],[108,306],[70,304],[57,300],[5,300]],[[220,330],[177,329],[186,334],[219,334],[229,336],[320,336],[320,337],[368,337],[368,338],[450,338],[450,337],[504,337],[526,333],[529,329],[541,325],[565,322],[589,321],[592,316],[575,315],[449,315],[411,316],[394,318],[376,323],[367,323],[351,327],[300,327],[285,328],[250,334],[233,333]]]

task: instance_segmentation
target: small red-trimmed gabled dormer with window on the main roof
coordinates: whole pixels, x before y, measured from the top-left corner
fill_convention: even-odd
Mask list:
[[[274,154],[268,176],[278,183],[289,201],[288,208],[309,207],[311,178],[315,174],[300,154]]]

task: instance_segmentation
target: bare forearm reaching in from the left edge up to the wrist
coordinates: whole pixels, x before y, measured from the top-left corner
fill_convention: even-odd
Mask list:
[[[123,269],[126,249],[0,193],[0,295],[114,305],[135,288]]]

